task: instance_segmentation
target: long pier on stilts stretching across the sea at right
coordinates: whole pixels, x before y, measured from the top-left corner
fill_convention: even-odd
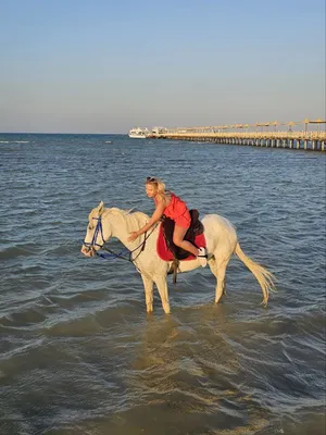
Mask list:
[[[294,132],[292,127],[300,123],[285,123],[288,125],[288,130],[264,130],[276,123],[254,124],[236,124],[233,126],[217,126],[217,127],[187,127],[187,128],[163,128],[154,130],[149,136],[154,139],[171,139],[171,140],[190,140],[225,145],[241,145],[251,147],[268,147],[268,148],[287,148],[287,149],[301,149],[306,151],[326,151],[326,132],[323,130],[308,130],[308,124],[325,124],[326,121],[321,119],[316,121],[305,120],[303,132]],[[261,130],[249,132],[250,127],[261,127]]]

